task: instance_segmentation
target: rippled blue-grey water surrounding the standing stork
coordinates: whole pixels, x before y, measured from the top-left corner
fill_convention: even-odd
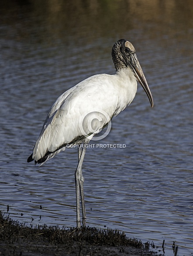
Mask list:
[[[178,255],[193,254],[191,1],[10,2],[0,8],[0,209],[22,223],[76,225],[77,149],[40,168],[26,160],[57,97],[93,74],[113,74],[111,48],[126,38],[155,106],[139,85],[99,142],[126,147],[87,150],[87,225],[159,249],[164,239],[168,256],[173,241]]]

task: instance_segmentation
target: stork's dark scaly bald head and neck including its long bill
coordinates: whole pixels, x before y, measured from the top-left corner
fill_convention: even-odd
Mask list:
[[[129,67],[132,70],[135,77],[137,78],[139,83],[142,85],[144,91],[146,92],[150,100],[151,107],[153,108],[153,97],[151,95],[146,78],[143,74],[143,70],[137,59],[136,50],[133,47],[133,45],[125,39],[120,39],[113,45],[112,58],[116,70],[122,70],[127,67]]]

